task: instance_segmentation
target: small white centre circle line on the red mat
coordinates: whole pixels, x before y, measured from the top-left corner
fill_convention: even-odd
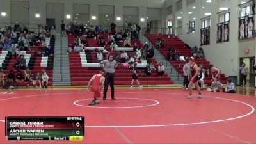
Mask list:
[[[89,107],[89,108],[109,108],[109,109],[122,109],[122,108],[145,108],[148,106],[156,106],[157,104],[159,104],[159,101],[157,100],[152,100],[152,99],[140,99],[140,98],[126,98],[126,97],[118,97],[117,99],[138,99],[138,100],[150,100],[153,102],[156,102],[154,104],[149,104],[149,105],[144,105],[144,106],[117,106],[117,107],[110,107],[110,106],[86,106],[86,105],[82,105],[82,104],[77,104],[77,102],[83,101],[83,100],[92,100],[92,99],[81,99],[81,100],[76,100],[75,102],[73,102],[74,105],[76,106],[83,106],[83,107]]]

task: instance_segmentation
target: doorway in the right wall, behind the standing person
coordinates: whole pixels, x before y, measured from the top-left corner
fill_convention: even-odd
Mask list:
[[[246,77],[247,85],[250,87],[255,87],[255,70],[252,70],[253,65],[255,65],[255,58],[254,57],[240,58],[240,65],[243,62],[248,68],[248,73]],[[240,81],[241,81],[241,77],[240,77]]]

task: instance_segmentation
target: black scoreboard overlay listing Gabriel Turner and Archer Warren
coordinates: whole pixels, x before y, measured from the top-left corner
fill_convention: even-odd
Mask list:
[[[83,140],[84,116],[6,116],[8,140]]]

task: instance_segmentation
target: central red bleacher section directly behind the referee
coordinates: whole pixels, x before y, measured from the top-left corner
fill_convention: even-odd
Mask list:
[[[100,34],[100,36],[103,36],[108,42],[108,35],[109,34]],[[74,35],[68,35],[68,44],[74,44]],[[95,39],[88,38],[88,47],[99,47],[98,41]],[[131,47],[133,47],[134,43],[137,43],[140,45],[140,40],[131,40]],[[143,47],[143,45],[140,45],[140,47]],[[106,45],[106,49],[109,49],[109,45]],[[113,54],[115,55],[116,51],[113,51]],[[93,63],[95,63],[95,54],[97,52],[90,52],[91,59]],[[127,52],[127,54],[134,55],[134,52]],[[88,67],[82,67],[81,65],[81,59],[79,52],[70,52],[69,54],[70,58],[70,79],[71,84],[74,85],[84,85],[88,84],[88,81],[93,76],[93,74],[97,74],[99,70],[91,70]],[[152,61],[154,62],[154,65],[157,67],[158,63],[157,61],[152,58]],[[170,77],[167,76],[167,74],[164,74],[164,77],[158,77],[157,72],[153,72],[152,77],[141,77],[143,75],[144,70],[138,70],[138,76],[140,80],[140,84],[173,84],[173,81],[170,81]],[[132,80],[132,70],[129,70],[128,68],[124,67],[118,67],[115,73],[115,84],[116,85],[130,85]],[[135,83],[134,83],[135,84]]]

